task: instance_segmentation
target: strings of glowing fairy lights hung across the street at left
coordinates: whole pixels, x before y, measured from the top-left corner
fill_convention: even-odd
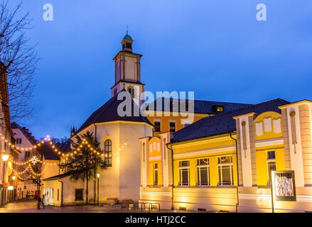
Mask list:
[[[0,133],[1,136],[1,133]],[[92,148],[92,145],[90,145],[90,143],[87,142],[86,139],[83,139],[81,144],[78,146],[78,148],[76,148],[75,150],[71,150],[69,153],[63,153],[61,152],[57,146],[53,143],[53,140],[51,140],[50,136],[47,135],[45,136],[45,138],[43,138],[43,140],[41,140],[40,142],[36,143],[35,145],[26,147],[26,148],[21,148],[18,147],[12,143],[10,143],[8,140],[6,140],[6,138],[2,135],[1,139],[3,140],[4,143],[6,143],[7,145],[9,145],[13,150],[25,150],[25,151],[32,151],[32,150],[36,150],[37,148],[40,148],[44,143],[48,143],[48,145],[50,145],[50,148],[52,148],[53,152],[57,155],[59,155],[60,157],[64,158],[65,160],[68,160],[69,157],[73,157],[75,155],[77,155],[78,153],[80,153],[80,150],[86,146],[87,149],[90,151],[90,153],[93,153],[94,155],[98,156],[98,157],[107,157],[108,154],[104,154],[101,152],[99,152],[99,150],[96,150],[95,148]],[[117,150],[116,152],[112,153],[113,155],[117,155],[119,152],[122,151],[122,149],[127,145],[127,142],[124,143],[124,145],[122,145],[122,148],[119,148],[119,150]],[[36,155],[33,155],[29,160],[25,161],[25,162],[17,162],[16,160],[13,160],[12,158],[10,158],[10,161],[12,163],[14,163],[15,165],[18,166],[23,166],[23,165],[27,165],[26,168],[22,171],[17,171],[14,170],[15,175],[18,177],[18,179],[20,180],[26,180],[26,178],[21,177],[21,175],[25,174],[26,172],[28,172],[28,170],[31,172],[29,175],[30,177],[36,178],[36,177],[40,177],[41,175],[44,174],[45,170],[47,169],[48,165],[56,165],[56,163],[48,163],[48,162],[43,162],[42,160],[40,160]],[[41,172],[36,172],[35,170],[33,170],[33,167],[31,166],[31,164],[36,165],[36,163],[41,163],[44,165],[44,168]]]

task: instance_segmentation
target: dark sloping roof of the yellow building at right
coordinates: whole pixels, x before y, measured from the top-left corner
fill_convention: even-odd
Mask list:
[[[173,143],[236,131],[236,123],[235,119],[233,118],[234,116],[240,116],[242,114],[248,114],[252,112],[259,115],[266,111],[276,111],[281,113],[279,106],[289,103],[289,101],[285,101],[283,99],[274,99],[261,104],[247,106],[242,109],[202,118],[190,126],[187,126],[174,133]]]

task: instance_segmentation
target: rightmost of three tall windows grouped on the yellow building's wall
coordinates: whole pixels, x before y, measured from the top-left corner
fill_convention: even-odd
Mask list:
[[[233,185],[232,156],[217,157],[219,185]]]

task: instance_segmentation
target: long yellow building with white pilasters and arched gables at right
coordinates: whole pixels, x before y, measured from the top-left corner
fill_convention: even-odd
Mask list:
[[[312,211],[312,101],[274,99],[141,138],[140,200],[161,209],[271,212],[271,170],[294,170],[296,201]]]

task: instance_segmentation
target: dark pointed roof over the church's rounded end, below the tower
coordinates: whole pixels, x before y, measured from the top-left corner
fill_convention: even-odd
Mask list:
[[[126,92],[126,90],[122,90],[121,92]],[[127,95],[130,96],[130,94],[127,92]],[[151,126],[152,124],[149,122],[149,120],[141,116],[134,116],[134,110],[139,111],[139,106],[136,105],[133,99],[131,99],[131,116],[119,116],[117,109],[119,104],[123,102],[123,100],[117,99],[118,94],[113,96],[109,101],[107,101],[103,106],[99,107],[89,118],[87,118],[87,121],[82,124],[82,126],[78,129],[77,133],[82,131],[83,129],[87,128],[88,126],[92,125],[93,123],[100,123],[100,122],[109,122],[109,121],[136,121],[136,122],[145,122],[149,123]]]

